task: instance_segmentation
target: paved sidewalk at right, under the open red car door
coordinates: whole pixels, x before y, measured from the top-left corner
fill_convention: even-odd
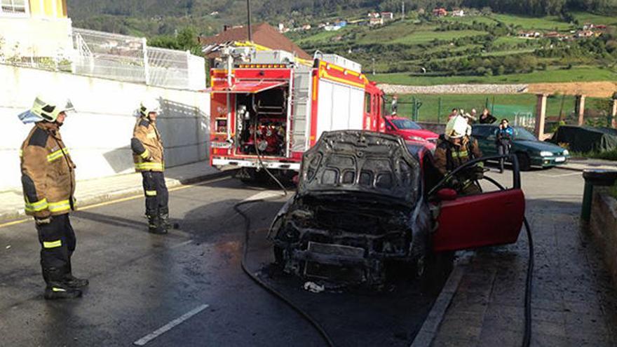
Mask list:
[[[617,290],[590,232],[579,224],[580,203],[531,197],[528,204],[536,263],[531,346],[617,346]],[[437,314],[412,346],[521,346],[525,232],[513,245],[462,255],[433,306]]]

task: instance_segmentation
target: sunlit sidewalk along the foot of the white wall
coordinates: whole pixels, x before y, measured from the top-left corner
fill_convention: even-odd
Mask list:
[[[222,175],[225,175],[224,171],[212,168],[203,161],[166,169],[165,182],[168,188],[171,188]],[[142,175],[131,173],[77,181],[75,198],[78,206],[86,206],[142,192]],[[15,187],[8,191],[0,191],[0,221],[23,216],[25,212],[22,188]]]

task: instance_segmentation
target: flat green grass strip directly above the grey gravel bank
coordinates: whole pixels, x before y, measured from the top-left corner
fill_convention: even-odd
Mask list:
[[[409,86],[435,86],[457,83],[543,83],[579,81],[616,81],[617,72],[599,67],[574,67],[572,69],[550,69],[529,74],[502,76],[412,76],[406,72],[376,74],[368,76],[379,83],[404,84]]]

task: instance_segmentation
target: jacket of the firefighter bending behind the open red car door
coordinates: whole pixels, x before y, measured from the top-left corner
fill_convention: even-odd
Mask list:
[[[435,168],[442,174],[458,168],[459,166],[482,157],[482,151],[478,147],[477,140],[470,136],[463,136],[461,144],[454,144],[445,139],[444,135],[439,137],[435,154],[433,154]]]

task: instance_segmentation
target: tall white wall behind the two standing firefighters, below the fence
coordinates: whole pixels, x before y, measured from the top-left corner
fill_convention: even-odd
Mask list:
[[[208,94],[1,64],[0,81],[0,191],[21,185],[18,151],[32,124],[24,125],[17,115],[45,90],[62,91],[76,108],[62,126],[62,137],[77,165],[77,179],[133,172],[130,138],[135,111],[145,97],[161,100],[157,125],[166,148],[165,165],[207,160]]]

